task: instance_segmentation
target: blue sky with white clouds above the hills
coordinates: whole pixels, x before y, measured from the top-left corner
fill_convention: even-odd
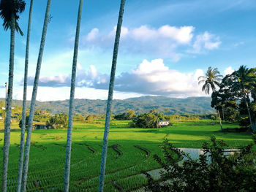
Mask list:
[[[34,1],[28,99],[37,66],[46,0]],[[29,4],[15,34],[13,99],[23,99]],[[79,1],[52,0],[37,100],[69,99]],[[77,99],[107,99],[120,1],[84,0]],[[114,99],[206,96],[197,78],[208,66],[222,75],[255,67],[255,0],[127,0],[118,51]],[[0,20],[2,24],[3,21]],[[10,31],[0,27],[0,97],[8,80]]]

